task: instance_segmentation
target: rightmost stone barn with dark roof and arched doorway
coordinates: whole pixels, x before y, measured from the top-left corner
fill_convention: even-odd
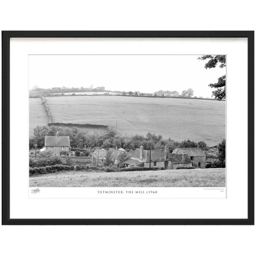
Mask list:
[[[206,154],[200,148],[176,148],[172,151],[172,154],[187,154],[191,161],[192,166],[198,168],[205,168]]]

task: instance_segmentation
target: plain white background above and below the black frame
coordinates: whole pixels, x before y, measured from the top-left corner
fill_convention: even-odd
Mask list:
[[[1,30],[255,30],[253,1],[5,1]],[[238,57],[239,59],[239,57]],[[248,255],[255,226],[1,226],[4,255]]]

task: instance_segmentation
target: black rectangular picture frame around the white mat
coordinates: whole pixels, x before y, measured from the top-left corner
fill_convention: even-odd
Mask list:
[[[10,219],[10,38],[247,38],[248,218],[246,219]],[[253,225],[254,31],[2,31],[3,225]]]

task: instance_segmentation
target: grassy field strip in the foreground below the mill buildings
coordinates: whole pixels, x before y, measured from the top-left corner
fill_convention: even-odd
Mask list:
[[[225,187],[225,168],[136,172],[65,171],[30,177],[30,187]]]

